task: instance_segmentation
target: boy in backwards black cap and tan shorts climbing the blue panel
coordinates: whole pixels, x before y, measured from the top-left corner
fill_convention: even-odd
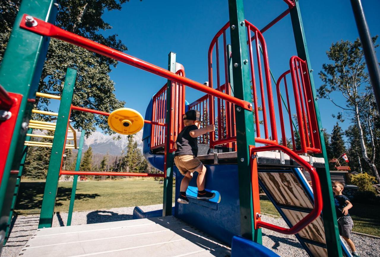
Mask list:
[[[201,114],[197,110],[187,111],[183,117],[185,127],[178,134],[174,148],[174,163],[176,164],[179,172],[185,177],[182,179],[180,186],[180,193],[177,202],[181,204],[188,204],[189,200],[186,197],[186,190],[193,178],[193,172],[198,172],[196,184],[198,186],[197,199],[211,199],[215,197],[215,193],[204,190],[206,183],[206,167],[203,166],[201,161],[196,158],[198,155],[198,140],[197,137],[207,132],[215,130],[214,124],[210,124],[204,128],[201,127]]]

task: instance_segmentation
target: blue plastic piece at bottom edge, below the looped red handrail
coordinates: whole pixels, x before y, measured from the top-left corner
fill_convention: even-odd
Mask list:
[[[232,238],[231,257],[242,256],[280,257],[261,244],[235,236]]]

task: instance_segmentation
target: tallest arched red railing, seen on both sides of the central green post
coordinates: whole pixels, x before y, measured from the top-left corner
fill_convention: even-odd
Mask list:
[[[279,17],[277,17],[272,24],[277,22],[280,18],[284,17],[288,12],[285,11],[284,13],[280,14]],[[270,25],[272,25],[270,24]],[[273,103],[273,96],[272,96],[272,85],[271,85],[271,76],[269,71],[269,60],[268,60],[268,51],[266,47],[266,43],[264,40],[264,37],[260,30],[256,28],[254,25],[252,25],[250,22],[245,20],[245,26],[247,27],[247,34],[248,37],[251,39],[251,41],[255,41],[255,53],[253,51],[252,42],[249,42],[249,60],[247,60],[250,63],[250,75],[251,75],[251,81],[252,81],[252,98],[253,98],[253,111],[255,116],[255,130],[257,139],[256,141],[258,143],[264,143],[264,144],[278,144],[277,140],[277,129],[276,129],[276,123],[275,123],[275,113],[274,113],[274,103]],[[268,25],[269,26],[269,25]],[[268,29],[266,26],[265,28]],[[211,41],[209,52],[208,52],[208,60],[209,60],[209,87],[214,87],[214,77],[213,77],[213,63],[212,63],[212,53],[215,48],[215,58],[216,58],[216,89],[221,92],[225,92],[226,94],[231,95],[231,88],[230,84],[228,83],[228,58],[230,58],[229,53],[226,53],[226,30],[230,27],[230,23],[227,22],[221,30],[218,31],[218,33],[214,36],[214,38]],[[253,32],[254,36],[251,37],[251,33]],[[219,38],[223,37],[223,56],[224,56],[224,80],[225,84],[220,85],[220,61],[219,61]],[[257,40],[256,40],[257,39]],[[261,55],[260,55],[260,47],[259,43],[261,45],[261,49],[263,50],[263,66],[261,65]],[[256,62],[257,62],[257,70],[255,70],[255,64],[254,64],[254,58],[253,56],[256,56]],[[256,83],[256,72],[258,73],[258,81],[259,83]],[[263,74],[265,76],[265,80],[263,79]],[[265,81],[265,88],[264,88],[264,81]],[[256,85],[260,85],[260,96],[257,94]],[[227,85],[225,87],[225,85]],[[224,87],[223,87],[224,86]],[[266,93],[266,96],[265,96]],[[234,110],[234,105],[231,102],[228,102],[223,99],[217,100],[217,118],[215,116],[215,97],[209,96],[209,111],[210,111],[210,117],[209,121],[210,123],[215,123],[215,120],[218,121],[218,133],[215,135],[214,132],[210,133],[210,146],[213,147],[215,145],[221,144],[221,143],[228,143],[233,142],[236,140],[234,132],[234,114],[232,114]],[[259,106],[258,99],[261,99],[261,105]],[[266,102],[267,101],[267,102]],[[269,112],[269,122],[267,117],[267,107]],[[261,110],[260,110],[261,108]],[[260,120],[260,113],[259,110],[262,113],[262,119]],[[226,115],[228,113],[228,115]],[[261,136],[261,128],[260,124],[263,124],[264,127],[264,136]],[[270,127],[271,135],[269,136],[268,127]],[[225,132],[225,133],[224,133]]]

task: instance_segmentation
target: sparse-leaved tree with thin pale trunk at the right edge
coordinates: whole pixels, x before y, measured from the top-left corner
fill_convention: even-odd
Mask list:
[[[372,42],[376,45],[377,36],[372,38]],[[373,96],[373,89],[370,85],[369,75],[366,71],[366,63],[362,45],[359,39],[354,42],[339,41],[331,45],[326,52],[327,57],[332,63],[323,64],[322,71],[319,72],[323,84],[318,89],[320,98],[330,100],[334,105],[339,107],[342,112],[338,114],[338,119],[343,119],[347,115],[353,124],[356,125],[359,133],[359,143],[361,147],[361,155],[367,163],[377,181],[380,182],[380,176],[375,166],[375,144],[372,144],[372,158],[369,155],[366,144],[366,137],[370,138],[370,142],[374,142],[373,133],[365,134],[364,123],[368,123],[368,127],[374,127],[374,119],[363,120],[364,111],[370,105],[370,99]],[[332,98],[338,94],[339,99],[344,99],[345,104],[340,104]],[[375,111],[375,110],[373,110]],[[371,114],[372,115],[372,114]]]

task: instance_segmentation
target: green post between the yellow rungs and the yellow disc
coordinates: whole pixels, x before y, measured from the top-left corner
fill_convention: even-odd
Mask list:
[[[55,197],[57,196],[59,172],[62,155],[65,151],[67,125],[70,119],[70,107],[73,100],[76,70],[68,68],[59,105],[57,125],[55,127],[53,146],[47,169],[44,196],[42,199],[40,223],[38,228],[51,227],[54,215]]]

